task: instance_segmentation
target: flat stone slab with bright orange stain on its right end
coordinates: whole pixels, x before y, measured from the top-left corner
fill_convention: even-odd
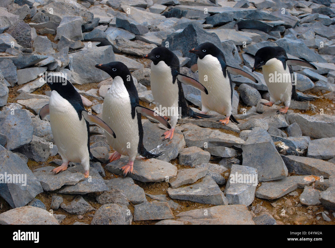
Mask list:
[[[297,188],[303,189],[305,186],[315,182],[314,176],[288,176],[281,180],[263,182],[255,193],[255,196],[262,199],[278,199]]]

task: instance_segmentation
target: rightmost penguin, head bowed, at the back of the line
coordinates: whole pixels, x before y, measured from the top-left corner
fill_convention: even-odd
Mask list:
[[[296,93],[295,84],[291,83],[293,82],[291,66],[317,69],[307,61],[287,58],[285,49],[280,46],[266,46],[259,49],[255,54],[255,64],[252,71],[254,72],[262,67],[265,83],[270,94],[270,101],[267,103],[262,102],[262,104],[271,107],[275,102],[282,101],[285,108],[278,110],[277,114],[287,113],[291,99],[295,101],[315,100],[314,97],[300,96]]]

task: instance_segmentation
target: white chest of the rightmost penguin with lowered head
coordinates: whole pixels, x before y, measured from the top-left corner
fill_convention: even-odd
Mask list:
[[[286,65],[286,69],[284,69],[279,59],[271,58],[262,69],[265,83],[273,100],[289,103],[292,95],[292,84],[288,66]]]

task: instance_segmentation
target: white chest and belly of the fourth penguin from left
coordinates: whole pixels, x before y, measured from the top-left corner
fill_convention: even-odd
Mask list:
[[[222,115],[231,115],[231,89],[229,77],[223,76],[219,60],[206,55],[198,58],[199,81],[202,83],[208,95],[201,92],[201,101],[205,109],[213,110]]]

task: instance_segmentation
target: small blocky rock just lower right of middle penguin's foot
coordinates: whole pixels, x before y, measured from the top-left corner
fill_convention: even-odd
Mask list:
[[[179,163],[182,165],[189,165],[194,167],[194,165],[208,163],[209,159],[210,153],[205,152],[198,147],[184,148],[179,153]]]

